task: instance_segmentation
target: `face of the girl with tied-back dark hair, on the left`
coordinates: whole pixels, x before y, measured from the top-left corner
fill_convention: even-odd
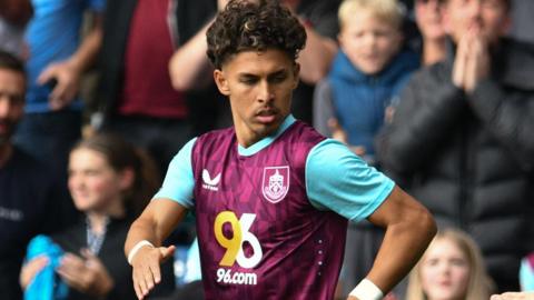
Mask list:
[[[78,210],[108,213],[121,207],[121,192],[129,182],[115,171],[106,157],[95,150],[78,148],[70,153],[69,191]]]

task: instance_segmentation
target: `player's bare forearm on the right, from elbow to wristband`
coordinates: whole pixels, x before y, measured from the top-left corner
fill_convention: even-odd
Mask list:
[[[417,263],[435,233],[434,219],[423,207],[388,226],[367,279],[386,294]]]

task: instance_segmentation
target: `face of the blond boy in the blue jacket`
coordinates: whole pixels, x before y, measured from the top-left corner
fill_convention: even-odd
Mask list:
[[[382,71],[400,47],[402,36],[388,22],[362,10],[347,20],[339,33],[343,51],[366,74]]]

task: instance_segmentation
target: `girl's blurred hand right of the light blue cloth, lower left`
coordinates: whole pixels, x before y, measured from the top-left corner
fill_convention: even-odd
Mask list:
[[[100,259],[89,250],[81,251],[83,258],[67,253],[61,259],[57,272],[61,279],[75,290],[82,293],[102,297],[115,286],[115,282]]]

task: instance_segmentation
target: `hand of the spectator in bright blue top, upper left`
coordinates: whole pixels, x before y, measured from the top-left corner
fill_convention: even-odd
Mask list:
[[[72,102],[80,88],[80,73],[69,61],[61,61],[49,64],[39,74],[37,82],[41,86],[57,82],[49,96],[52,110],[60,110]]]

